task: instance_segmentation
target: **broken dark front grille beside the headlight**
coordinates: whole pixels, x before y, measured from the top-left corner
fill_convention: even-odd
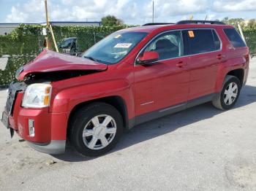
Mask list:
[[[13,106],[15,105],[15,99],[19,91],[26,89],[26,84],[24,82],[12,82],[8,89],[8,97],[6,104],[6,111],[9,115],[13,113]]]

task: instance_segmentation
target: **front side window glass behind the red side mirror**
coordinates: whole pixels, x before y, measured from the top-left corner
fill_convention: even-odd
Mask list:
[[[144,51],[156,51],[159,60],[177,58],[183,55],[181,31],[170,31],[157,36]]]

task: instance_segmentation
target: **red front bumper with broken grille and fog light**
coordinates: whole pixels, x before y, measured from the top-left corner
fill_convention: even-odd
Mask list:
[[[21,102],[25,89],[20,83],[10,85],[1,122],[10,128],[11,136],[15,131],[39,152],[53,155],[64,153],[68,114],[50,113],[48,108],[23,108]]]

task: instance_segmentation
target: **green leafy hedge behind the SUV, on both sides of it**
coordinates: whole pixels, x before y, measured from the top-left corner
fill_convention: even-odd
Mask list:
[[[0,70],[0,86],[12,82],[15,79],[15,71],[42,50],[45,39],[42,35],[42,27],[20,25],[11,34],[0,35],[0,58],[2,55],[10,55],[7,68],[4,71]],[[78,51],[83,52],[105,36],[127,27],[129,26],[53,26],[53,31],[57,42],[67,37],[77,37]],[[47,32],[51,42],[50,48],[54,50],[50,32]],[[256,55],[256,29],[246,29],[244,36],[251,54]]]

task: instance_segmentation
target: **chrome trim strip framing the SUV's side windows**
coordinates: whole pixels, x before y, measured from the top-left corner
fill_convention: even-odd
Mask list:
[[[172,32],[172,31],[187,31],[187,30],[214,30],[215,33],[217,34],[218,38],[219,38],[219,34],[217,33],[216,29],[215,28],[184,28],[184,29],[174,29],[174,30],[168,30],[168,31],[162,31],[161,33],[157,34],[156,36],[154,36],[150,41],[148,41],[141,49],[140,49],[140,52],[138,52],[137,56],[135,57],[135,61],[133,63],[134,66],[138,66],[140,64],[137,64],[136,63],[136,60],[137,58],[139,57],[140,53],[144,50],[144,48],[146,46],[148,46],[148,44],[150,44],[154,39],[156,39],[158,36],[162,35],[162,34],[165,34],[165,33],[168,33],[168,32]],[[181,34],[181,37],[182,37],[182,44],[183,44],[183,36]],[[207,54],[207,53],[211,53],[211,52],[219,52],[219,51],[222,51],[222,39],[219,38],[219,41],[220,41],[220,48],[219,50],[214,50],[214,51],[210,51],[210,52],[202,52],[202,53],[197,53],[197,54],[191,54],[191,55],[183,55],[183,56],[178,56],[178,57],[175,57],[175,58],[184,58],[184,57],[187,57],[187,56],[193,56],[193,55],[202,55],[202,54]],[[183,44],[184,45],[184,44]],[[175,58],[167,58],[167,59],[162,59],[162,60],[159,60],[159,61],[167,61],[167,60],[173,60]],[[154,61],[154,62],[151,62],[151,63],[157,63],[159,61]]]

